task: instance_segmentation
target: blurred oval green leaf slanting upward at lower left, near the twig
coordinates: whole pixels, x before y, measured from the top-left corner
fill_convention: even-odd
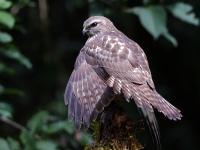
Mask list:
[[[29,121],[28,121],[28,127],[31,129],[31,134],[35,134],[36,132],[39,132],[42,130],[44,124],[48,120],[48,112],[46,111],[40,111],[36,113]]]

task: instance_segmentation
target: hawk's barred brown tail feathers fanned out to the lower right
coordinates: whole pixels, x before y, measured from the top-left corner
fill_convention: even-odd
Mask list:
[[[122,85],[122,91],[127,101],[134,99],[137,107],[141,110],[153,138],[157,143],[158,149],[161,149],[160,133],[158,123],[154,114],[154,108],[162,112],[171,120],[180,120],[182,115],[180,110],[165,100],[155,89],[146,84],[127,83]],[[131,96],[130,96],[131,95]]]

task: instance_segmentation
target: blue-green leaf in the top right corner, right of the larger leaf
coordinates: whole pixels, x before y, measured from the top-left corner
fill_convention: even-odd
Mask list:
[[[192,12],[193,7],[191,5],[177,2],[168,6],[168,9],[178,19],[196,26],[199,25],[199,19],[195,18],[195,14]]]

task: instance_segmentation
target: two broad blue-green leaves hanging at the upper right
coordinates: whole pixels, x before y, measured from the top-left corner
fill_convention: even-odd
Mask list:
[[[145,1],[146,3],[146,1]],[[199,25],[199,20],[192,13],[192,6],[184,3],[174,3],[167,7],[169,11],[178,19],[193,25]],[[168,32],[167,9],[162,5],[147,5],[133,7],[125,10],[139,17],[141,25],[154,37],[158,39],[161,35],[177,46],[177,40]]]

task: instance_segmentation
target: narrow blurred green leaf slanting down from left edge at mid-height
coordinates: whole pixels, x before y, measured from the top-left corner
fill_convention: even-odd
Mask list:
[[[0,53],[4,54],[9,58],[17,60],[19,63],[21,63],[28,69],[32,68],[32,64],[30,63],[30,61],[25,56],[23,56],[17,49],[0,48]]]

